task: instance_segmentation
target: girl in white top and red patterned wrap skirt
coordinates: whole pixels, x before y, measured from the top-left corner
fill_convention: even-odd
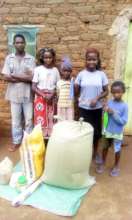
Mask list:
[[[41,123],[44,138],[49,138],[56,114],[56,85],[59,71],[55,67],[55,51],[50,48],[40,50],[40,66],[34,70],[32,89],[35,92],[34,124]]]

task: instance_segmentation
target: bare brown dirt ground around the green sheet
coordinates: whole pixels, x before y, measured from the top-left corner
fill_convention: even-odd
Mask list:
[[[132,137],[126,137],[127,147],[123,147],[121,173],[110,177],[113,151],[110,150],[106,171],[103,175],[95,173],[91,165],[91,175],[96,176],[97,184],[83,200],[79,212],[73,218],[56,216],[28,206],[14,208],[11,203],[0,199],[0,220],[132,220]],[[19,160],[19,152],[9,153],[10,139],[0,140],[0,159],[9,156],[14,165]]]

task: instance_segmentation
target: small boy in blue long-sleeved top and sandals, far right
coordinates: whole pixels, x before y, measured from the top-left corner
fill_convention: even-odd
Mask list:
[[[118,176],[120,172],[119,161],[123,140],[123,128],[128,120],[128,106],[122,100],[122,96],[125,93],[124,83],[121,81],[115,81],[111,86],[111,93],[113,95],[113,99],[108,101],[108,104],[104,109],[108,113],[108,125],[104,133],[104,145],[102,153],[103,162],[96,168],[96,172],[100,174],[104,172],[108,150],[111,144],[113,144],[115,162],[110,175]]]

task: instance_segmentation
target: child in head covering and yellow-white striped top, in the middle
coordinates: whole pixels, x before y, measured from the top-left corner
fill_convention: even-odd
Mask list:
[[[57,82],[57,114],[60,120],[74,119],[74,82],[71,78],[72,64],[68,57],[61,63],[61,79]]]

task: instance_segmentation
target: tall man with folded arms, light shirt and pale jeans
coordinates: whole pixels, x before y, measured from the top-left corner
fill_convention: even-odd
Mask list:
[[[8,81],[6,99],[11,103],[13,145],[9,147],[9,151],[15,151],[21,144],[23,119],[27,132],[33,127],[31,82],[35,59],[25,52],[26,41],[23,35],[15,35],[13,44],[16,51],[6,57],[2,70],[4,79]]]

